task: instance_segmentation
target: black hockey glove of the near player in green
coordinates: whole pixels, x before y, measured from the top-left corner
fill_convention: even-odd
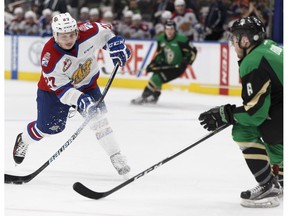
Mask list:
[[[224,124],[234,124],[233,111],[235,105],[226,104],[214,107],[207,112],[201,113],[198,120],[208,131],[214,131]]]

